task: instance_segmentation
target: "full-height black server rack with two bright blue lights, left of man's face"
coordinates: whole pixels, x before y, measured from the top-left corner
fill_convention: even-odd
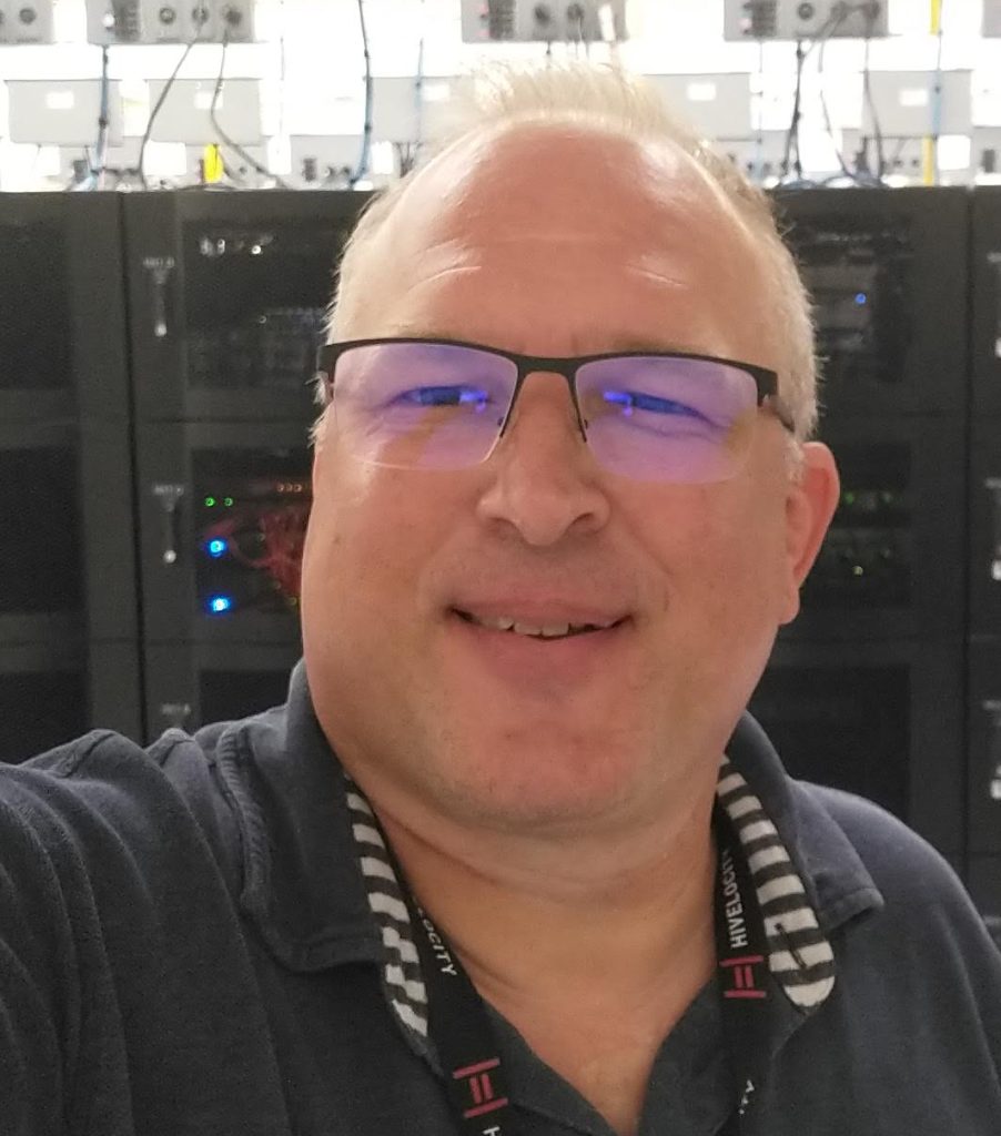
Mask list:
[[[124,203],[150,736],[284,699],[312,376],[366,193]]]

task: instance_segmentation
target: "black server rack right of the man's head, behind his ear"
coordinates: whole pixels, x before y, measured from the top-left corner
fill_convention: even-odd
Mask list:
[[[871,797],[962,870],[968,194],[776,206],[816,304],[842,495],[751,710],[793,774]]]

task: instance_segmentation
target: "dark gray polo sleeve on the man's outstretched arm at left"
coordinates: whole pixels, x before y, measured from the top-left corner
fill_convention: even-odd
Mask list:
[[[286,1130],[214,801],[180,736],[0,767],[0,1136]]]

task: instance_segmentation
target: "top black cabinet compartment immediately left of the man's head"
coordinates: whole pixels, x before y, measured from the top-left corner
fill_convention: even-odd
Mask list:
[[[144,193],[125,201],[136,415],[299,421],[335,268],[367,193]]]

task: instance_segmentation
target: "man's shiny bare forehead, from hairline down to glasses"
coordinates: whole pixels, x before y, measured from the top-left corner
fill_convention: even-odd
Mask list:
[[[676,147],[549,126],[476,135],[407,187],[352,281],[342,334],[475,339],[481,325],[494,329],[501,309],[508,323],[528,319],[527,304],[535,323],[558,315],[566,334],[572,315],[583,321],[592,333],[576,353],[586,354],[627,350],[606,334],[620,309],[649,331],[669,304],[685,325],[684,348],[708,352],[703,325],[719,304],[746,302],[758,274],[742,228]],[[599,310],[616,287],[633,301]]]

